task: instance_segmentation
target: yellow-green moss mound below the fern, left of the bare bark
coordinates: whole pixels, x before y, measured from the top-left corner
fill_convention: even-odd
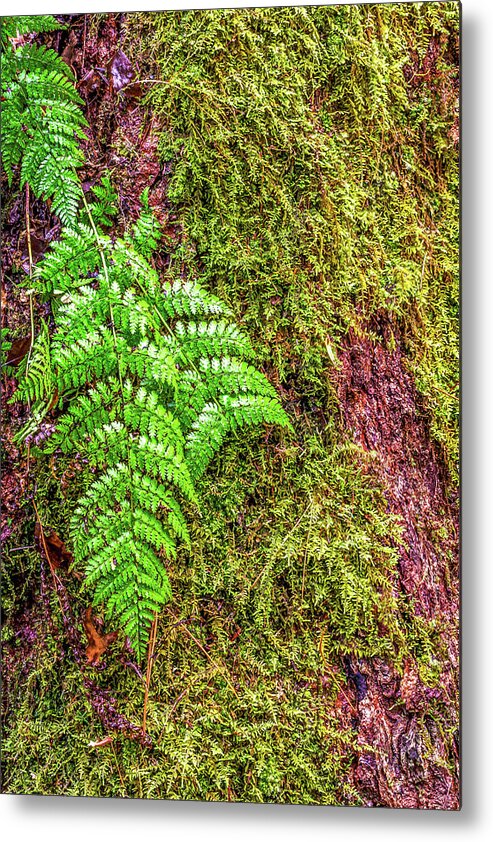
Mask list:
[[[338,443],[333,422],[323,436],[308,416],[299,428],[302,444],[230,442],[204,479],[202,510],[189,513],[193,553],[169,565],[174,602],[159,624],[148,714],[155,747],[117,737],[90,748],[106,734],[53,596],[58,634],[33,620],[35,663],[26,677],[20,659],[9,687],[7,791],[360,803],[347,784],[356,732],[336,712],[347,684],[338,656],[411,656],[426,670],[436,644],[394,594],[400,530],[355,467],[363,455]],[[64,534],[70,506],[52,492],[51,517],[47,503],[41,516]],[[69,592],[81,617],[75,579]],[[143,682],[107,662],[92,677],[139,723]]]

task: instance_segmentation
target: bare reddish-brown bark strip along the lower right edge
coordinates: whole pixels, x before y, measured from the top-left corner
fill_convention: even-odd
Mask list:
[[[396,586],[411,598],[416,614],[439,621],[443,654],[436,687],[423,683],[411,659],[402,677],[381,659],[347,660],[361,747],[354,784],[369,805],[454,810],[459,806],[457,504],[405,368],[399,334],[385,316],[372,329],[380,342],[351,331],[340,355],[343,422],[354,440],[373,452],[372,470],[402,521]],[[395,350],[389,349],[392,333]]]

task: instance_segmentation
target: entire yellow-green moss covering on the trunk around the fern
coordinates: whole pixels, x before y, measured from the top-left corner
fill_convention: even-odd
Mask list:
[[[133,722],[143,680],[117,657],[122,641],[104,669],[81,671],[49,577],[40,595],[39,553],[7,551],[4,790],[368,803],[352,769],[372,746],[358,744],[347,657],[398,674],[413,663],[433,688],[447,655],[440,618],[399,587],[402,520],[344,430],[338,355],[350,329],[383,341],[376,314],[396,326],[453,494],[457,38],[455,3],[127,16],[179,224],[166,271],[228,301],[296,435],[249,431],[202,481],[192,552],[169,565],[152,748],[118,731],[89,746],[109,731],[84,676]],[[41,519],[63,536],[76,481],[64,497],[50,466],[31,471]],[[32,545],[33,530],[24,521],[12,543]],[[64,581],[79,617],[87,596]],[[434,698],[426,714],[450,745]]]

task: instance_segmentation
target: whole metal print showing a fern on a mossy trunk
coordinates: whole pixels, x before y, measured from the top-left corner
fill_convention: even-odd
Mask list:
[[[459,16],[2,18],[4,792],[459,808]]]

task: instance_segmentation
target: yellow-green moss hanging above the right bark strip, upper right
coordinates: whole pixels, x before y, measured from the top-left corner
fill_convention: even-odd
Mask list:
[[[184,229],[177,261],[241,309],[281,382],[303,363],[308,393],[332,364],[327,338],[336,349],[349,325],[391,313],[455,478],[458,14],[452,2],[137,17]]]

